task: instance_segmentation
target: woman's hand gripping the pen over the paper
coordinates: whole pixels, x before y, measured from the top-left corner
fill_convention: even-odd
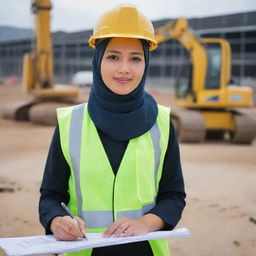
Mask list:
[[[52,219],[50,229],[57,240],[73,241],[85,234],[86,224],[79,217],[57,216]]]

